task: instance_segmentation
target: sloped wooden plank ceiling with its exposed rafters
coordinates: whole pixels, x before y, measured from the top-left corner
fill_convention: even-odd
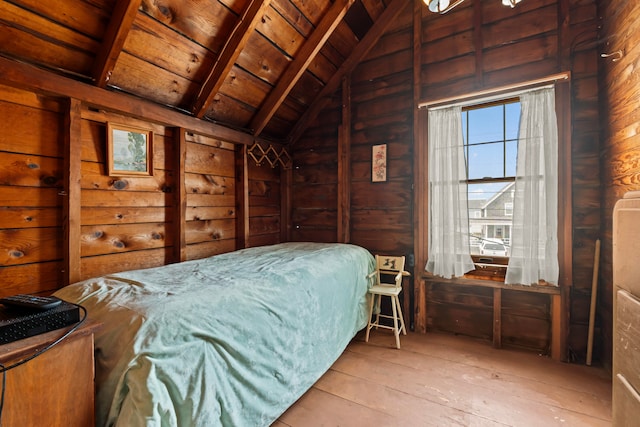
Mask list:
[[[0,55],[295,140],[406,0],[5,0]]]

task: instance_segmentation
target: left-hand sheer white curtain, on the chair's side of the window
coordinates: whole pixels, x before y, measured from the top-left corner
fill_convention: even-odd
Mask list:
[[[425,269],[447,279],[474,269],[461,107],[429,110],[429,250]]]

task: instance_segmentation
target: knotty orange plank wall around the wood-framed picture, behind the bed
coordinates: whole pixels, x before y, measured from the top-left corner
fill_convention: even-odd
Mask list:
[[[81,278],[179,261],[172,248],[180,244],[173,223],[181,185],[185,259],[235,249],[233,144],[187,132],[182,181],[174,161],[179,129],[88,109],[82,115]],[[152,177],[106,175],[107,121],[153,131]]]

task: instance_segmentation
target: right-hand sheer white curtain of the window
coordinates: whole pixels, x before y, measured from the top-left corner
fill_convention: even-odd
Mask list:
[[[558,284],[558,128],[553,87],[520,97],[511,253],[505,283]]]

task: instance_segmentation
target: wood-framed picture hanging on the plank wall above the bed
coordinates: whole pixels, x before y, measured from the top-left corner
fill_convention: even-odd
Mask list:
[[[109,176],[153,176],[153,132],[107,122]]]

